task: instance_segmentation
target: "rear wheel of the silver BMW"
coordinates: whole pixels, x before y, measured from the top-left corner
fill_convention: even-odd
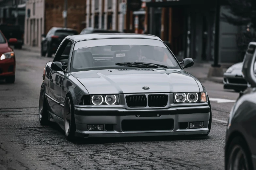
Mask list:
[[[39,115],[39,122],[41,125],[49,124],[47,104],[46,104],[46,99],[45,99],[45,95],[43,92],[43,88],[41,88],[41,90],[40,90],[38,115]]]

